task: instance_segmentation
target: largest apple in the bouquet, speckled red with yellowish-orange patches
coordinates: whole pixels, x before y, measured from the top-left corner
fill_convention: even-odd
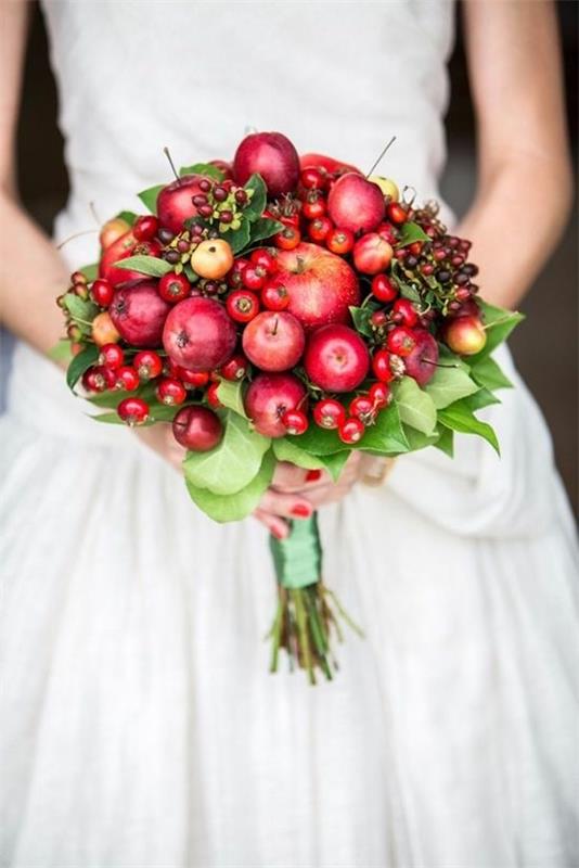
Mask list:
[[[349,322],[350,305],[360,303],[358,278],[350,266],[318,244],[278,252],[275,279],[290,295],[287,310],[306,331],[331,322]]]

